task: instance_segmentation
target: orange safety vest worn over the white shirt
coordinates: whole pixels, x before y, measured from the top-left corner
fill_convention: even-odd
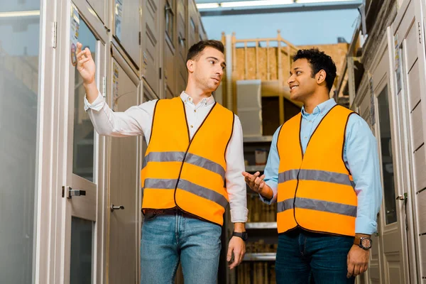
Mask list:
[[[142,209],[178,207],[222,226],[229,202],[225,152],[233,129],[232,111],[215,103],[190,139],[182,99],[158,100],[141,170]]]

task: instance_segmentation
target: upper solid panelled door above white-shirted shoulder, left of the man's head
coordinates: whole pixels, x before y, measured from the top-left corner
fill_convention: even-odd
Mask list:
[[[160,84],[160,18],[158,1],[143,1],[142,23],[142,75],[157,96]]]

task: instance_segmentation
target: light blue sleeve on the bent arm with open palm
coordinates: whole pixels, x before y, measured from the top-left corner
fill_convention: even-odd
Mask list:
[[[261,197],[262,202],[265,202],[266,204],[273,204],[277,201],[277,193],[278,193],[278,168],[280,166],[280,157],[278,155],[278,149],[277,149],[277,141],[278,141],[278,134],[280,133],[281,126],[278,127],[278,129],[275,131],[272,137],[271,142],[271,148],[269,150],[268,155],[268,161],[266,162],[265,171],[263,172],[265,174],[265,182],[266,185],[269,185],[273,191],[273,197],[271,200],[267,200],[262,195],[259,195]]]

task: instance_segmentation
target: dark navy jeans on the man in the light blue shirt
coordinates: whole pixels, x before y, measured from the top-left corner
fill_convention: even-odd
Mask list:
[[[316,234],[295,229],[278,236],[275,273],[278,284],[344,284],[347,255],[354,237]],[[311,281],[311,282],[310,282]]]

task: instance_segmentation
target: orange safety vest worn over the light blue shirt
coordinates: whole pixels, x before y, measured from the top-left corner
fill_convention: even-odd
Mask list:
[[[302,115],[285,122],[278,135],[278,233],[308,231],[355,235],[358,200],[343,160],[346,124],[353,111],[333,107],[308,142],[300,141]]]

